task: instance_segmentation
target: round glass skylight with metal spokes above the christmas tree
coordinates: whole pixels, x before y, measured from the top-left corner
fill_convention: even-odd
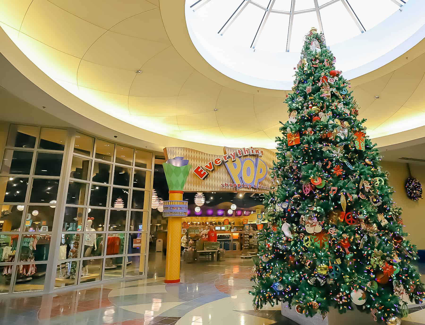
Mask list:
[[[187,0],[205,32],[253,50],[299,52],[311,27],[326,44],[353,38],[379,24],[408,0]]]

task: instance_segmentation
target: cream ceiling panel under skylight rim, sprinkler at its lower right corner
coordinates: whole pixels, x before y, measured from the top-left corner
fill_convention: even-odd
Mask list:
[[[220,85],[194,71],[179,92],[177,114],[213,112],[220,90]]]

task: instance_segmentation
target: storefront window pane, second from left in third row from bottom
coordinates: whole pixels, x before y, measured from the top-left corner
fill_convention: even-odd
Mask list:
[[[52,231],[56,207],[54,205],[30,205],[24,218],[25,232]]]

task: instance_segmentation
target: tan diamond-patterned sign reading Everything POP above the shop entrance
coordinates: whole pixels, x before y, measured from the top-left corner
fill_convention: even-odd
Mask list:
[[[268,193],[275,152],[263,148],[223,148],[223,155],[183,147],[164,148],[165,159],[184,157],[191,165],[184,192]]]

